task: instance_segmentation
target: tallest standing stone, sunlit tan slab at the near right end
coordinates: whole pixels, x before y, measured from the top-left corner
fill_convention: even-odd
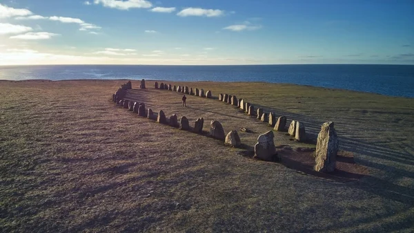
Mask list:
[[[339,140],[333,128],[333,122],[325,122],[317,135],[315,171],[331,172],[335,170],[338,147]]]

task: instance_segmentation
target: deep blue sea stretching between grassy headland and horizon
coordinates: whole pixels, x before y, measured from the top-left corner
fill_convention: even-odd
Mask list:
[[[0,66],[0,80],[120,79],[288,83],[414,97],[414,65]]]

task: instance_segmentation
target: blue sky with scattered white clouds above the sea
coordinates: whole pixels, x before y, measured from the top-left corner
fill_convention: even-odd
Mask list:
[[[21,64],[414,64],[414,1],[0,0]]]

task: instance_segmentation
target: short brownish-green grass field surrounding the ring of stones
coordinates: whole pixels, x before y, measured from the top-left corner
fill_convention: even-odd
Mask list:
[[[335,122],[368,169],[338,182],[246,155],[271,128],[228,104],[152,88],[137,98],[193,125],[219,120],[244,149],[157,124],[110,101],[125,80],[0,82],[1,232],[412,232],[414,100],[266,83],[173,83],[242,97],[304,122]],[[169,83],[169,82],[167,82]],[[139,82],[132,81],[137,88]],[[275,144],[315,147],[275,132]]]

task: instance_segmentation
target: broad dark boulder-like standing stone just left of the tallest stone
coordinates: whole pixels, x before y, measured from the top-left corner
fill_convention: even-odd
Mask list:
[[[257,144],[255,145],[255,158],[273,162],[280,160],[279,155],[276,153],[273,138],[275,138],[273,131],[268,131],[257,138]]]

